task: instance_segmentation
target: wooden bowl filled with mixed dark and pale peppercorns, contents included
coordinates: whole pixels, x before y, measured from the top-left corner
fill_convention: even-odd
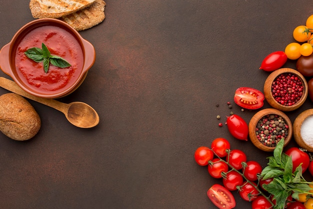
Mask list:
[[[258,111],[249,122],[249,137],[259,149],[271,152],[284,138],[284,146],[292,137],[292,123],[280,110],[267,108]]]

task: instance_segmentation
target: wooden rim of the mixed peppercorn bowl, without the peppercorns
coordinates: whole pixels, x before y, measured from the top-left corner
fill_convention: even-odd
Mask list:
[[[254,146],[256,146],[257,148],[259,148],[263,151],[266,151],[266,152],[274,151],[276,146],[269,147],[269,146],[262,144],[256,137],[255,128],[256,128],[258,121],[262,117],[264,117],[266,115],[270,115],[270,114],[275,114],[275,115],[282,117],[284,119],[284,121],[286,122],[286,124],[288,125],[288,135],[284,139],[284,146],[286,146],[289,143],[289,141],[292,137],[292,123],[286,114],[284,114],[280,110],[276,110],[273,108],[267,108],[267,109],[263,109],[263,110],[258,111],[255,115],[253,115],[253,117],[251,118],[251,120],[249,122],[249,125],[248,125],[249,137],[250,137],[251,142],[254,144]]]

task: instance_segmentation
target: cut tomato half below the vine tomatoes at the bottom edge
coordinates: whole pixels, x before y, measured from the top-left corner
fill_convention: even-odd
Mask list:
[[[219,184],[212,185],[207,190],[207,196],[219,209],[231,209],[236,206],[236,201],[230,191]]]

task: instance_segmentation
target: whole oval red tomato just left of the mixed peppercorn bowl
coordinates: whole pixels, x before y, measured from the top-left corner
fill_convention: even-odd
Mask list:
[[[248,125],[239,115],[233,114],[226,120],[230,134],[239,140],[248,140]]]

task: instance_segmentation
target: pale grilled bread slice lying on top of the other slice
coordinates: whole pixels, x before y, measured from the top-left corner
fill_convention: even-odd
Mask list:
[[[95,0],[30,0],[33,18],[60,18],[93,4]]]

